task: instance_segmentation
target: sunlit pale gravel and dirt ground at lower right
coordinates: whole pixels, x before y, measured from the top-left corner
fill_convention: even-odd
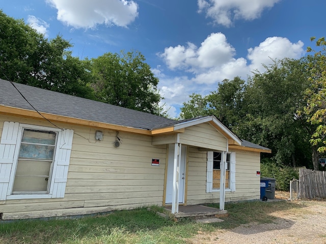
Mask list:
[[[276,192],[277,199],[289,199],[289,193]],[[249,223],[231,230],[198,233],[188,240],[192,244],[212,243],[326,243],[326,201],[296,201],[300,210],[273,212],[276,221],[268,224]]]

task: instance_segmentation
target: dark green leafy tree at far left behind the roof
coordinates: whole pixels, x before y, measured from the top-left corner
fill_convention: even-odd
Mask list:
[[[0,11],[0,78],[55,90],[78,97],[93,97],[87,86],[91,75],[72,57],[72,45],[61,36],[48,41],[42,34]]]

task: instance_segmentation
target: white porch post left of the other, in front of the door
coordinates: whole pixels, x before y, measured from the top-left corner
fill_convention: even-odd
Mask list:
[[[179,211],[179,177],[181,162],[181,143],[174,144],[172,214]]]

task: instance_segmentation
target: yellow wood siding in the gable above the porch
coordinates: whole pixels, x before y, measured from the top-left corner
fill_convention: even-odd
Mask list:
[[[208,123],[188,127],[180,134],[180,143],[226,151],[227,139]]]

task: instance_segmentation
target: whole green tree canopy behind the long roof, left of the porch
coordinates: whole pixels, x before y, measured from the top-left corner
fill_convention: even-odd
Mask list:
[[[137,51],[80,60],[72,45],[48,40],[22,19],[0,11],[0,78],[73,96],[164,115],[158,79]]]

